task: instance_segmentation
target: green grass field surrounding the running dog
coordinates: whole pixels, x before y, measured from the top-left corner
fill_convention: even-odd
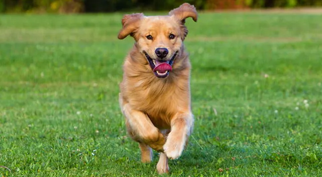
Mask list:
[[[0,176],[157,176],[118,106],[122,14],[0,16]],[[170,176],[322,175],[322,15],[187,20],[195,128]]]

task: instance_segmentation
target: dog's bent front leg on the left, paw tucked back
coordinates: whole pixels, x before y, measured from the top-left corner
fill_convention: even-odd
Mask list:
[[[159,129],[154,127],[146,114],[133,110],[129,104],[123,106],[123,113],[135,140],[147,144],[156,151],[163,152],[166,139]]]

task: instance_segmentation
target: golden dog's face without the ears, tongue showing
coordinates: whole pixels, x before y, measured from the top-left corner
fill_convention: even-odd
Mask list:
[[[171,17],[146,17],[134,35],[154,75],[167,77],[181,49],[180,25]]]

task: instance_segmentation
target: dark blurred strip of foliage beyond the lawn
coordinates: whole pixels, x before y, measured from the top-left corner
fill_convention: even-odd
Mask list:
[[[321,0],[0,0],[1,13],[163,11],[187,2],[198,10],[321,7]]]

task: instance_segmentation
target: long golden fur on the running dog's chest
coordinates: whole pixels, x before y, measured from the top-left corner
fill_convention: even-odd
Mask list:
[[[144,76],[141,75],[139,80],[127,80],[129,83],[125,93],[130,95],[127,101],[133,109],[148,115],[154,126],[168,129],[171,119],[189,107],[189,78],[169,76],[160,79],[154,75]]]

